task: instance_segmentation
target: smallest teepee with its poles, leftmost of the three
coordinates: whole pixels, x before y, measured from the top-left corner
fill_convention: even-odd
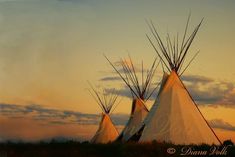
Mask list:
[[[92,85],[91,88],[93,92],[90,91],[90,93],[102,110],[102,119],[98,130],[91,139],[91,143],[112,142],[118,137],[118,131],[110,118],[110,114],[115,109],[114,105],[117,105],[116,100],[118,96],[112,93],[105,93],[104,90],[100,94]]]

